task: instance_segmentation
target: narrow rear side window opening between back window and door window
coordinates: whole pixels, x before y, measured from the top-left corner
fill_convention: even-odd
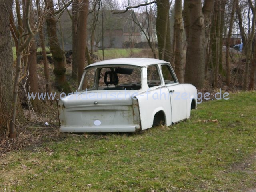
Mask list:
[[[147,68],[148,87],[161,85],[161,79],[156,65],[148,66]]]

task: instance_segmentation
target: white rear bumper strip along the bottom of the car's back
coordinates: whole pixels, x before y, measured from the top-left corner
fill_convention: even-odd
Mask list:
[[[61,126],[61,132],[68,133],[93,133],[93,132],[135,132],[140,126]]]

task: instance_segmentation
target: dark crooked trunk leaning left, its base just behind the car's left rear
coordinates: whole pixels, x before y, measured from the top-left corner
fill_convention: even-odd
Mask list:
[[[63,50],[60,48],[57,31],[56,19],[54,18],[54,6],[52,0],[45,0],[48,14],[46,16],[47,32],[49,37],[49,46],[54,61],[54,75],[56,87],[59,91],[70,93],[70,86],[66,81],[66,66]]]

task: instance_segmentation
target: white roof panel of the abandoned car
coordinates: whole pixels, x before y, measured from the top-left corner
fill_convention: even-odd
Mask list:
[[[139,67],[144,67],[152,64],[166,64],[169,63],[167,61],[163,61],[160,59],[153,59],[153,58],[118,58],[118,59],[109,59],[104,61],[99,61],[93,64],[88,65],[86,68],[92,66],[100,66],[100,65],[134,65]]]

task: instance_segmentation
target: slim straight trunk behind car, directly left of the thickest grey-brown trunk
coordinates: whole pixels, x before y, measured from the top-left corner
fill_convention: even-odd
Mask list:
[[[175,73],[180,83],[184,82],[184,63],[183,58],[183,24],[182,24],[182,0],[175,0],[175,14],[174,14],[174,34],[175,34],[175,50],[174,50],[174,64]]]

